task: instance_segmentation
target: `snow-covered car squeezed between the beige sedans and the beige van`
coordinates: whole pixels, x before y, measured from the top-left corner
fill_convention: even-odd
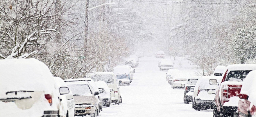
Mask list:
[[[97,87],[102,90],[102,105],[109,107],[112,103],[110,89],[104,81],[95,81]]]

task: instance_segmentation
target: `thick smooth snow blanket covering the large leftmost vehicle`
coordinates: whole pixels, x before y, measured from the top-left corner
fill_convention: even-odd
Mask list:
[[[52,73],[35,58],[0,60],[0,74],[0,96],[8,91],[43,90],[51,93],[55,89]]]

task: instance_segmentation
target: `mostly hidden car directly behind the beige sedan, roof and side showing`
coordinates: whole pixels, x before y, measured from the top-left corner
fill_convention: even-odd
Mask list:
[[[100,90],[98,89],[97,85],[91,78],[69,79],[69,80],[65,80],[64,82],[79,82],[79,81],[87,81],[92,88],[91,90],[93,90],[94,92],[99,92],[99,93],[97,93],[97,95],[95,95],[95,97],[98,99],[97,100],[97,105],[99,108],[98,112],[100,112],[100,110],[102,110],[102,99],[101,99]]]

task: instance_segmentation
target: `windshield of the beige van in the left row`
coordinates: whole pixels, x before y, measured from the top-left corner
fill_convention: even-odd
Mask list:
[[[113,78],[113,75],[95,75],[95,76],[92,76],[92,78],[94,81],[104,81],[106,82],[107,84],[114,84],[114,78]]]

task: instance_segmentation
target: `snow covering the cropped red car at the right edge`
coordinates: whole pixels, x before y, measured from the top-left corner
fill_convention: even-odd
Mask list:
[[[251,71],[243,81],[241,94],[249,96],[248,100],[256,106],[256,71]]]

